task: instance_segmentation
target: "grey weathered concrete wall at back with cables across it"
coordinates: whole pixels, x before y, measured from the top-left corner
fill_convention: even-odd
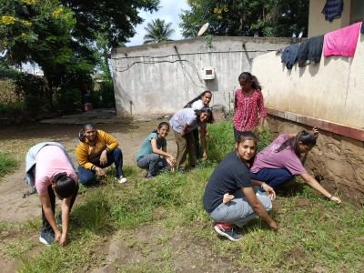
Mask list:
[[[206,89],[213,92],[212,105],[228,109],[238,76],[250,71],[252,58],[290,42],[288,38],[214,37],[208,44],[199,37],[117,48],[112,53],[117,116],[174,113]],[[205,66],[215,68],[214,80],[201,79]]]

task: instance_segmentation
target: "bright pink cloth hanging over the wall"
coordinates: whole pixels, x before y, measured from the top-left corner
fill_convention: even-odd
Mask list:
[[[324,36],[324,56],[354,56],[360,27],[361,22],[327,33]]]

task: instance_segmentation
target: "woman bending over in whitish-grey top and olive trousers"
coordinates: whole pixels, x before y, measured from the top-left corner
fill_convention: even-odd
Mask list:
[[[192,131],[198,126],[206,129],[207,123],[212,123],[214,117],[212,116],[211,108],[202,107],[201,110],[194,110],[192,108],[184,108],[179,110],[169,120],[176,138],[177,143],[177,163],[176,167],[179,172],[185,172],[187,154],[189,156],[189,165],[196,167],[196,147],[195,138]],[[201,134],[201,145],[203,147],[203,156],[207,159],[207,146],[205,134]]]

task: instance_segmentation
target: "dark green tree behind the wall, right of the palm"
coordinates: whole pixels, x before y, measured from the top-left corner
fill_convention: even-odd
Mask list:
[[[180,16],[185,37],[209,23],[210,35],[291,36],[307,34],[308,0],[188,0]]]

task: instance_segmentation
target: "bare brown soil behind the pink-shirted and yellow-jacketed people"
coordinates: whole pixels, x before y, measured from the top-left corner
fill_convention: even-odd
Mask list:
[[[123,151],[124,166],[134,165],[136,152],[147,135],[157,128],[161,120],[136,122],[130,121],[115,124],[97,124],[97,128],[115,136]],[[27,150],[42,141],[57,141],[62,143],[76,164],[75,147],[78,143],[79,125],[56,125],[32,123],[21,126],[6,126],[0,128],[2,151],[13,153],[22,160],[21,166],[10,175],[0,178],[0,222],[25,223],[41,216],[39,199],[36,195],[24,197],[29,190],[25,186],[25,154]],[[173,134],[167,136],[167,149],[175,153],[177,148]],[[132,183],[132,181],[129,181]],[[80,198],[76,200],[79,201]],[[0,240],[2,240],[0,238]],[[1,242],[0,242],[1,243]],[[15,260],[1,257],[1,272],[15,272]]]

